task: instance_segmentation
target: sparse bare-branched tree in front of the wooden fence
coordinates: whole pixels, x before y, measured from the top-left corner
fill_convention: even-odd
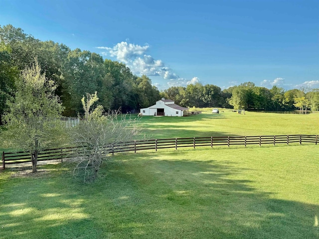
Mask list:
[[[95,95],[87,97],[92,99]],[[83,102],[83,101],[82,101]],[[83,107],[88,106],[88,102]],[[112,152],[114,144],[132,140],[140,132],[139,120],[129,115],[121,115],[116,111],[109,115],[103,114],[103,107],[98,106],[89,112],[86,108],[86,120],[72,128],[71,136],[77,146],[72,157],[76,163],[74,175],[83,176],[84,181],[94,181],[103,161]]]

